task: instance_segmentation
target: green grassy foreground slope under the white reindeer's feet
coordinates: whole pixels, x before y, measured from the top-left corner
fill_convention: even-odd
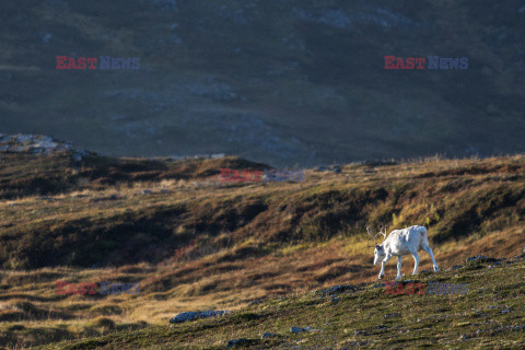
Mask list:
[[[223,317],[120,330],[40,349],[522,349],[525,338],[525,255],[488,270],[462,269],[415,282],[468,283],[466,295],[386,295],[374,283],[323,295],[296,293]],[[101,319],[97,320],[102,323]],[[312,327],[292,334],[291,327]],[[262,338],[265,334],[271,337]]]

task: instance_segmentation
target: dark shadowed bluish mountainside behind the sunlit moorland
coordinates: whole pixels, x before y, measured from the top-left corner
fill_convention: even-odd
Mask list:
[[[55,57],[140,57],[57,70]],[[385,55],[468,57],[385,70]],[[2,1],[0,132],[276,166],[525,151],[525,1]]]

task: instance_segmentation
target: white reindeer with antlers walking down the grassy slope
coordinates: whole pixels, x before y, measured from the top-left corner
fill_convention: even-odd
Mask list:
[[[418,273],[418,265],[419,265],[419,255],[418,250],[423,249],[424,252],[429,253],[432,262],[434,264],[434,271],[438,272],[440,268],[435,262],[434,255],[432,254],[432,249],[429,246],[429,241],[427,238],[427,229],[423,226],[410,226],[402,230],[394,230],[390,232],[388,237],[386,236],[386,228],[384,232],[381,231],[380,233],[383,234],[385,241],[382,244],[377,244],[375,237],[378,235],[373,235],[370,232],[369,228],[366,228],[370,236],[374,240],[375,250],[374,250],[374,265],[378,265],[381,261],[381,271],[380,271],[380,280],[385,276],[385,264],[393,256],[397,256],[397,277],[396,280],[401,278],[401,257],[404,255],[411,254],[413,256],[415,266],[413,266],[413,273]],[[370,245],[369,245],[370,246]]]

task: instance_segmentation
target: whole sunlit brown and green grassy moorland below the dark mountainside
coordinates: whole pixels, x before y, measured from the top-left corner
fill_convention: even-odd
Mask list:
[[[0,164],[0,346],[7,348],[63,339],[84,339],[68,340],[71,349],[160,349],[164,342],[221,348],[235,337],[259,339],[261,331],[283,337],[254,340],[260,348],[289,348],[304,337],[311,339],[299,345],[305,348],[343,348],[351,341],[381,348],[380,334],[393,348],[404,339],[416,341],[415,348],[441,339],[445,347],[463,334],[471,337],[486,322],[475,319],[471,307],[493,305],[513,311],[490,312],[501,319],[483,324],[494,332],[486,348],[502,339],[513,348],[523,335],[504,328],[522,325],[521,296],[514,296],[523,280],[521,259],[490,270],[444,271],[470,256],[510,258],[523,252],[523,155],[348,164],[340,173],[308,170],[301,183],[219,182],[221,167],[266,166],[236,158],[174,162],[90,155],[79,163],[66,153],[2,153]],[[380,223],[390,230],[427,225],[442,271],[417,280],[468,282],[471,292],[444,298],[448,304],[443,304],[438,296],[394,298],[372,288],[378,268],[364,226]],[[404,261],[408,278],[413,262]],[[386,280],[395,269],[389,262]],[[424,269],[431,261],[421,253]],[[60,295],[58,281],[140,283],[140,293]],[[359,291],[334,305],[308,294],[348,283]],[[504,299],[497,302],[494,292]],[[480,298],[483,307],[472,306]],[[264,303],[245,308],[254,300]],[[397,312],[398,300],[401,318],[380,322]],[[210,308],[235,313],[167,327],[178,312]],[[442,315],[443,324],[431,328],[435,338],[423,336],[431,315]],[[401,326],[406,320],[411,324]],[[457,324],[453,331],[445,326],[450,320]],[[326,322],[329,326],[322,327]],[[372,330],[376,323],[387,330]],[[290,335],[291,326],[323,331]],[[354,337],[354,330],[370,336]],[[471,348],[469,342],[455,347],[462,345]]]

